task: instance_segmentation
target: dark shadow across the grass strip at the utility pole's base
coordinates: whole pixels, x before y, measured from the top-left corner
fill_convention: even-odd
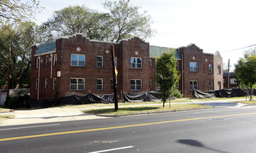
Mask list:
[[[88,114],[126,114],[128,112],[130,113],[136,113],[141,111],[152,111],[159,109],[157,107],[141,107],[141,108],[118,108],[118,111],[114,111],[114,108],[104,108],[104,109],[95,109],[90,111],[84,111]]]

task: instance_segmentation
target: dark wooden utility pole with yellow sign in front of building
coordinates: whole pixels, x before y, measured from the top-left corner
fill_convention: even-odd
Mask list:
[[[114,105],[115,111],[118,110],[118,101],[117,101],[117,69],[114,63],[114,43],[112,44],[112,69],[113,69],[113,86],[114,86]]]

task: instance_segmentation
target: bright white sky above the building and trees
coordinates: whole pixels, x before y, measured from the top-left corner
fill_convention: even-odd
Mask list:
[[[41,0],[44,10],[37,14],[37,23],[43,23],[59,11],[74,5],[107,12],[104,0]],[[256,44],[255,0],[130,0],[140,11],[152,17],[152,38],[149,45],[179,48],[194,43],[205,53],[220,52],[223,67],[231,70],[245,48]],[[240,49],[237,49],[240,48]],[[237,49],[237,50],[235,50]]]

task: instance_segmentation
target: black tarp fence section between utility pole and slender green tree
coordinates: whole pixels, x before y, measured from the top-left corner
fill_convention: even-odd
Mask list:
[[[124,92],[123,101],[161,101],[161,92]]]

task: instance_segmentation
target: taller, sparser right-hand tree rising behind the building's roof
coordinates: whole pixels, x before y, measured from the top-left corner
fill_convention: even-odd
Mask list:
[[[128,39],[131,36],[139,36],[142,39],[151,37],[155,30],[152,30],[152,23],[149,14],[144,11],[139,13],[139,7],[129,4],[130,0],[119,2],[104,2],[104,8],[110,11],[112,31],[111,42],[118,42],[121,39]]]

